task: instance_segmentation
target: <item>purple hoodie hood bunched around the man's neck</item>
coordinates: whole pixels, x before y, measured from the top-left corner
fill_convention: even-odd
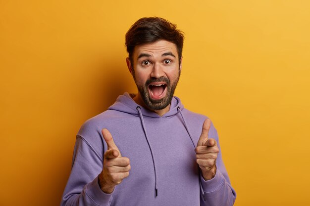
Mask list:
[[[132,97],[134,97],[134,94],[129,94],[125,92],[123,95],[119,95],[115,103],[111,105],[108,109],[139,116],[139,112],[137,110],[137,107],[139,107],[144,117],[160,118],[160,117],[174,116],[178,113],[178,109],[183,110],[184,108],[183,104],[181,103],[181,100],[178,97],[174,96],[171,100],[169,111],[165,113],[163,116],[159,116],[155,112],[152,112],[151,110],[148,110],[138,105],[133,100]]]

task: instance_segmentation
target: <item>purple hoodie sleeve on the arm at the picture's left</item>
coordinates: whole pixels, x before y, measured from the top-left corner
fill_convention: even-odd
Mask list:
[[[98,183],[102,159],[82,136],[77,136],[60,206],[110,206],[113,193],[103,193]]]

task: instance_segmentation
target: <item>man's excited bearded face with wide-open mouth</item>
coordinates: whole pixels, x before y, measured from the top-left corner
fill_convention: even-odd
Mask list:
[[[151,110],[166,108],[171,103],[182,67],[176,45],[164,40],[138,45],[132,60],[131,73],[146,106]]]

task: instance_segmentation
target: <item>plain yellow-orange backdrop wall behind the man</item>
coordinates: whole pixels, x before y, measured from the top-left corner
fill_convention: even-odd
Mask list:
[[[1,0],[0,206],[59,205],[81,124],[136,91],[145,16],[185,32],[176,95],[217,127],[235,206],[309,206],[308,0]]]

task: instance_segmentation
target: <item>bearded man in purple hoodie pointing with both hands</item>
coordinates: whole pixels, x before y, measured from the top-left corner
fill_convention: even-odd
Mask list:
[[[77,134],[61,206],[232,206],[217,131],[173,96],[183,33],[141,18],[126,33],[138,93],[120,95]]]

